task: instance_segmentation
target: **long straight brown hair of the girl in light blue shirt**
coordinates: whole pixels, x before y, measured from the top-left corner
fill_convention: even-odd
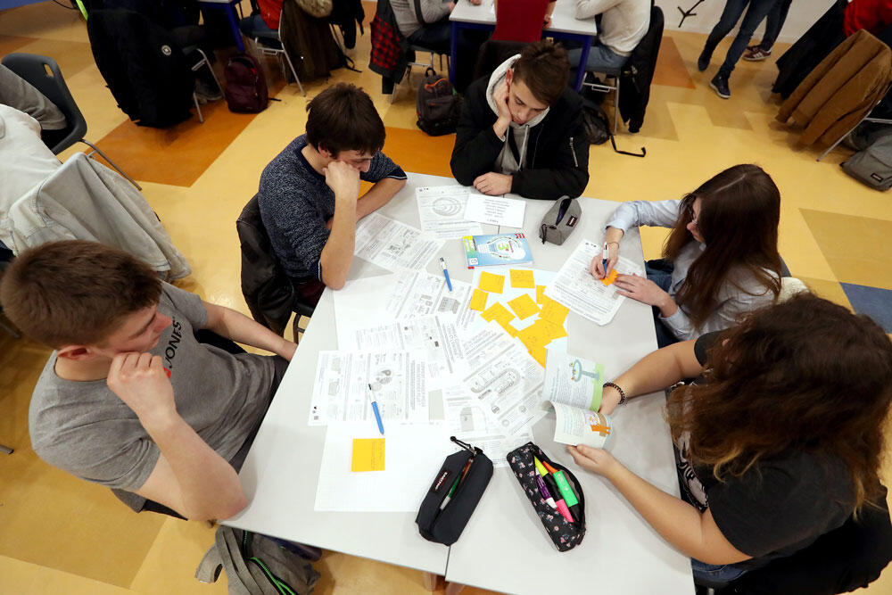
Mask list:
[[[691,264],[675,295],[694,326],[701,326],[715,310],[716,296],[733,269],[746,269],[775,297],[780,293],[780,191],[771,176],[757,165],[735,165],[685,195],[663,247],[665,259],[675,260],[694,241],[687,226],[698,198],[697,225],[706,250]]]

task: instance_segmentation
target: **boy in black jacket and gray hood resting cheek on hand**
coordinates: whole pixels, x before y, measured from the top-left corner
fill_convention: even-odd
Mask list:
[[[566,50],[540,41],[467,88],[450,161],[459,184],[550,200],[582,194],[589,141],[569,71]]]

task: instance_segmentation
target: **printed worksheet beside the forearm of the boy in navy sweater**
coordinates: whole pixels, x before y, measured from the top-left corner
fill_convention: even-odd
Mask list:
[[[384,269],[424,269],[440,248],[442,240],[380,213],[371,213],[356,224],[353,253]]]

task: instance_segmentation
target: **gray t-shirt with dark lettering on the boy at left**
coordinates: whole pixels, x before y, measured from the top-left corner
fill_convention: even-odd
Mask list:
[[[194,293],[164,284],[158,310],[173,323],[151,352],[163,359],[179,415],[221,457],[232,459],[266,413],[273,358],[198,343],[193,332],[207,323],[208,312]],[[35,452],[89,482],[136,491],[161,451],[105,380],[63,380],[55,361],[53,352],[31,398]]]

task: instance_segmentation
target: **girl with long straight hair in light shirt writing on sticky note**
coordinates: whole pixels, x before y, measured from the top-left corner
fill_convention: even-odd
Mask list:
[[[607,270],[599,255],[591,274],[613,270],[625,231],[670,227],[665,260],[650,260],[647,277],[618,275],[618,293],[654,307],[657,344],[695,339],[734,325],[780,293],[780,191],[756,165],[735,165],[681,200],[624,202],[607,221]]]

